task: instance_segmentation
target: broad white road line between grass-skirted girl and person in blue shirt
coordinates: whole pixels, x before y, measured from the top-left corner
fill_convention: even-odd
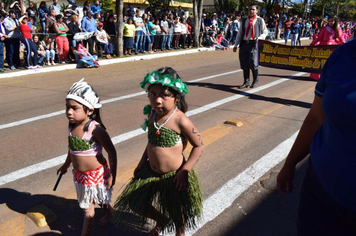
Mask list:
[[[203,217],[199,222],[198,228],[186,232],[186,235],[193,235],[205,224],[214,220],[218,215],[229,208],[243,192],[251,187],[251,185],[253,185],[274,166],[282,162],[291,149],[298,132],[299,131],[280,143],[272,151],[257,160],[235,178],[226,182],[220,189],[208,197],[203,202]],[[164,235],[173,236],[175,234]]]

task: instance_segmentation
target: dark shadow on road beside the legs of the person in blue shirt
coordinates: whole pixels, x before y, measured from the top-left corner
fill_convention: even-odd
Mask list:
[[[298,201],[307,166],[307,160],[299,165],[292,193],[283,196],[275,188],[271,188],[270,194],[261,204],[221,236],[296,236]],[[275,177],[271,179],[274,186]]]

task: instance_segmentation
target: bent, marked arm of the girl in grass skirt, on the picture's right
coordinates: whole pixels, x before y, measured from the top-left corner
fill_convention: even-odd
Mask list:
[[[193,169],[194,165],[198,162],[203,152],[204,144],[198,129],[184,114],[179,119],[179,127],[181,128],[181,133],[183,136],[193,146],[187,161],[183,164],[173,179],[173,182],[176,183],[176,188],[178,191],[184,191],[188,186],[188,174]]]

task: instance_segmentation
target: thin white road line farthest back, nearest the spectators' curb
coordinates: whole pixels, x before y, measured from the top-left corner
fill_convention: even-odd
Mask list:
[[[216,75],[206,76],[206,77],[202,77],[202,78],[199,78],[199,79],[188,81],[187,83],[189,85],[189,83],[194,83],[194,82],[198,82],[198,81],[202,81],[202,80],[213,79],[213,78],[220,77],[220,76],[225,76],[225,75],[229,75],[229,74],[238,73],[240,71],[242,71],[242,70],[234,70],[234,71],[229,71],[229,72],[220,73],[220,74],[216,74]],[[137,97],[137,96],[141,96],[141,95],[144,95],[144,94],[146,94],[144,91],[138,92],[138,93],[132,93],[132,94],[129,94],[129,95],[124,95],[124,96],[120,96],[120,97],[116,97],[116,98],[103,100],[103,101],[101,101],[101,103],[105,104],[105,103],[117,102],[117,101],[120,101],[120,100]],[[0,130],[1,129],[6,129],[6,128],[10,128],[10,127],[14,127],[14,126],[18,126],[18,125],[23,125],[23,124],[30,123],[30,122],[37,121],[37,120],[50,118],[50,117],[53,117],[53,116],[62,115],[64,113],[65,113],[65,110],[56,111],[56,112],[48,113],[48,114],[45,114],[45,115],[35,116],[35,117],[24,119],[24,120],[19,120],[19,121],[3,124],[3,125],[0,125]]]

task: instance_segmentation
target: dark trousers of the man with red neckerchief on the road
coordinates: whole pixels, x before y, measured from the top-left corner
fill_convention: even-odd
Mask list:
[[[250,80],[252,70],[253,80],[258,79],[258,51],[256,41],[241,41],[239,49],[240,67],[244,74],[244,81]]]

